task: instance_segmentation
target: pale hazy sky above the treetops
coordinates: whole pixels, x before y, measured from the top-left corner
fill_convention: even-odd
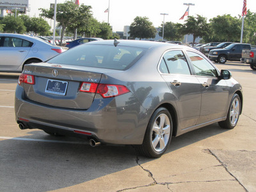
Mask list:
[[[56,0],[57,3],[64,3],[65,0]],[[50,8],[55,0],[29,0],[30,17],[38,17],[38,8]],[[218,15],[230,14],[238,17],[242,14],[243,0],[79,0],[80,4],[92,6],[93,17],[99,22],[108,22],[108,13],[104,11],[109,6],[109,24],[113,31],[124,31],[124,26],[130,26],[135,17],[148,17],[155,27],[161,26],[164,22],[184,23],[179,20],[186,12],[188,6],[183,3],[193,3],[190,6],[189,15],[196,14],[206,17],[208,20]],[[247,10],[256,12],[256,0],[247,0]],[[168,15],[160,15],[167,13]]]

